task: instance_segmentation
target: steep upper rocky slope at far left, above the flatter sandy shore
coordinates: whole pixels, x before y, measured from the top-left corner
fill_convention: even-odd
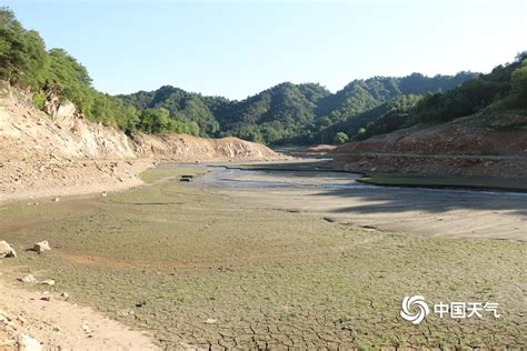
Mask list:
[[[89,122],[71,103],[54,117],[34,109],[29,97],[0,82],[0,161],[135,159],[133,146],[116,129]]]

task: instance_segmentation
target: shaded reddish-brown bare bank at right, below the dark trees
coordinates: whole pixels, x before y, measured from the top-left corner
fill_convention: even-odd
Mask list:
[[[361,172],[526,178],[526,116],[477,114],[350,142],[330,154]]]

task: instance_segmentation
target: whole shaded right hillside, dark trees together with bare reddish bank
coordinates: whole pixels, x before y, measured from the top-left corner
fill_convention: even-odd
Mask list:
[[[415,184],[406,174],[468,177],[474,187],[480,178],[527,178],[527,53],[414,107],[379,110],[352,142],[330,151],[346,169],[404,173]]]

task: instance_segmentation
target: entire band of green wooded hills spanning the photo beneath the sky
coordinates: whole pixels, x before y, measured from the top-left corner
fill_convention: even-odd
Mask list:
[[[92,88],[87,69],[62,49],[46,50],[33,30],[0,8],[0,79],[28,90],[48,112],[72,101],[86,118],[128,133],[235,136],[265,143],[345,142],[481,110],[525,109],[526,54],[488,74],[374,77],[336,93],[285,82],[241,101],[170,86],[111,97]]]

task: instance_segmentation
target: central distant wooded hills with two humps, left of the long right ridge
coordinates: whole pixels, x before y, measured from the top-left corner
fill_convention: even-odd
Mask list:
[[[319,84],[281,83],[243,101],[203,97],[170,86],[119,97],[139,110],[162,108],[173,119],[193,121],[203,137],[236,136],[275,142],[296,137],[311,126],[317,102],[329,94]]]

